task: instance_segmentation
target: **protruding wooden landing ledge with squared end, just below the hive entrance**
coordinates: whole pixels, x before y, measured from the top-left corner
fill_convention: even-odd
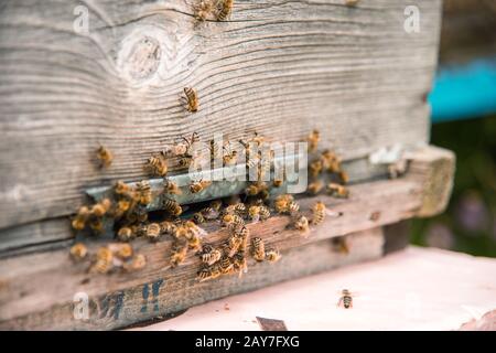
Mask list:
[[[440,160],[444,162],[441,163]],[[303,238],[296,231],[288,228],[290,222],[288,216],[273,216],[265,222],[250,224],[249,228],[254,236],[260,236],[269,246],[277,246],[285,252],[309,243],[365,232],[411,218],[424,210],[425,200],[429,200],[430,210],[441,212],[440,206],[434,206],[431,199],[425,197],[425,192],[430,195],[432,189],[424,185],[427,176],[435,178],[430,172],[431,169],[442,173],[438,167],[444,165],[448,170],[452,170],[450,163],[453,162],[451,153],[442,153],[438,149],[423,149],[423,153],[419,151],[417,159],[410,162],[410,168],[416,172],[409,172],[405,178],[351,185],[351,197],[347,200],[325,195],[303,197],[299,202],[305,213],[316,200],[321,200],[341,215],[336,218],[327,217],[322,226],[312,229],[309,238]],[[441,195],[443,196],[436,200],[445,205],[445,193],[442,192]],[[205,229],[209,232],[204,239],[205,243],[216,243],[227,237],[227,232],[218,229],[216,224],[208,224]],[[93,240],[88,246],[94,252],[99,244]],[[99,297],[159,279],[179,287],[186,284],[192,286],[188,287],[192,291],[196,286],[202,288],[203,284],[195,285],[194,280],[200,264],[194,255],[188,255],[183,266],[169,268],[168,254],[171,239],[155,244],[138,239],[133,242],[133,247],[148,258],[147,267],[136,274],[89,276],[86,272],[88,264],[73,264],[66,248],[0,260],[0,321],[9,325],[9,320],[14,318],[51,310],[53,306],[71,302],[74,293],[78,291]],[[262,278],[271,277],[277,280],[277,276],[272,277],[271,271],[263,272],[263,276]],[[215,296],[217,289],[213,290]],[[186,304],[185,302],[183,308]]]

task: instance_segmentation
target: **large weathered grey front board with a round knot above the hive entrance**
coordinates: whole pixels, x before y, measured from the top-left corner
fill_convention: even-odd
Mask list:
[[[88,33],[74,30],[88,9]],[[440,0],[235,1],[196,23],[192,2],[6,0],[0,7],[0,227],[68,215],[85,188],[143,176],[194,130],[296,140],[314,127],[345,159],[428,140]],[[181,106],[185,86],[201,110]],[[95,167],[98,143],[115,153]]]

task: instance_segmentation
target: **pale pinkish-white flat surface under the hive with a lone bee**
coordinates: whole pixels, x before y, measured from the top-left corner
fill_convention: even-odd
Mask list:
[[[496,259],[409,247],[374,263],[225,298],[140,330],[496,330]],[[339,290],[357,292],[337,308]]]

